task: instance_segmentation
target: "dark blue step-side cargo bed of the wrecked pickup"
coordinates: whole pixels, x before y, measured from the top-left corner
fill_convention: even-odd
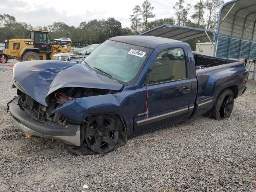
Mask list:
[[[248,73],[244,62],[199,54],[194,55],[194,58],[198,80],[196,103],[198,105],[207,103],[197,108],[194,115],[204,114],[212,108],[218,94],[225,88],[232,89],[235,98],[242,94],[245,89],[242,80],[246,79]]]

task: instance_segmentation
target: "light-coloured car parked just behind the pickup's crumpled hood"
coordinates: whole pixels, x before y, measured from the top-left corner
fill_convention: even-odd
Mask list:
[[[58,61],[72,61],[81,63],[88,55],[91,54],[100,44],[88,45],[86,48],[82,48],[78,54],[74,53],[57,53],[53,55],[53,60]]]

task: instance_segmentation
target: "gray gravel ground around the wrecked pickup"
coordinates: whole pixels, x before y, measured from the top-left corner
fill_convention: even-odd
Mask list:
[[[0,66],[0,191],[256,192],[256,82],[231,118],[200,116],[136,136],[104,156],[72,156],[62,142],[26,138],[5,107],[16,94]]]

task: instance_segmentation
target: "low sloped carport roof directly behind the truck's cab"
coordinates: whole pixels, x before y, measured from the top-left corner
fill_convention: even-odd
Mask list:
[[[206,33],[215,37],[215,31],[213,30],[163,24],[140,35],[163,37],[187,42],[197,38],[207,37]]]

